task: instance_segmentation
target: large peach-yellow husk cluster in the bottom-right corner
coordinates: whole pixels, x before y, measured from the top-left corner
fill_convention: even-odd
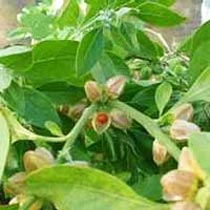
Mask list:
[[[199,184],[205,177],[189,148],[184,147],[178,168],[169,171],[161,179],[164,200],[175,202],[172,210],[201,210],[194,200]]]

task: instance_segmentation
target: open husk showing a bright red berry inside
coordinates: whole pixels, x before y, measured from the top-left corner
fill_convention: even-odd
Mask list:
[[[110,124],[111,117],[106,112],[98,112],[92,119],[93,129],[98,134],[102,134],[104,131],[106,131],[109,128]]]

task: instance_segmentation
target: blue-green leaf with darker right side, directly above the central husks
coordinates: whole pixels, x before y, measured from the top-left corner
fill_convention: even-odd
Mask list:
[[[106,81],[117,75],[130,76],[130,70],[125,62],[113,53],[104,53],[97,64],[91,70],[94,79],[98,83]]]

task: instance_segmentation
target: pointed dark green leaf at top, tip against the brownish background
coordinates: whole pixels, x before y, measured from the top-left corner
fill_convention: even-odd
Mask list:
[[[167,27],[182,23],[185,18],[171,11],[166,6],[153,2],[140,4],[137,16],[150,24]]]

